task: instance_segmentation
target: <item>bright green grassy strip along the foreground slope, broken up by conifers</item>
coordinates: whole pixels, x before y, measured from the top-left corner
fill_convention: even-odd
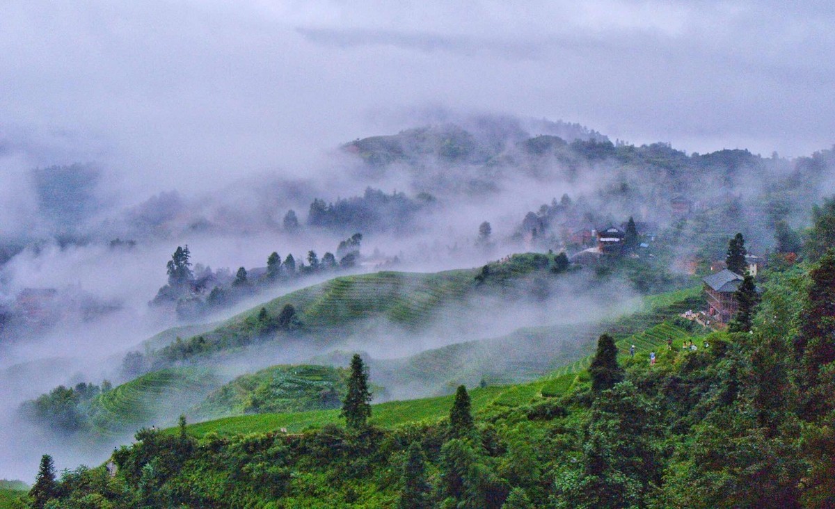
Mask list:
[[[698,291],[691,289],[651,298],[647,301],[647,310],[615,320],[607,325],[607,330],[611,330],[618,339],[621,349],[624,345],[628,348],[628,345],[634,343],[639,358],[648,355],[650,350],[658,350],[665,346],[668,337],[674,340],[675,349],[681,348],[682,341],[691,336],[686,330],[665,320],[693,307],[697,295]],[[656,320],[655,323],[652,320]],[[642,327],[644,329],[641,329]],[[519,406],[538,396],[558,395],[578,383],[578,378],[589,362],[590,356],[585,356],[554,371],[546,378],[525,384],[473,389],[470,391],[473,411],[478,412],[488,405]],[[448,415],[452,401],[453,396],[389,401],[373,406],[371,421],[378,426],[397,426],[407,422],[438,420]],[[189,431],[195,436],[203,436],[210,432],[238,434],[276,431],[282,427],[294,432],[307,426],[323,426],[337,422],[340,422],[340,418],[339,411],[336,410],[261,414],[203,422],[189,426]]]

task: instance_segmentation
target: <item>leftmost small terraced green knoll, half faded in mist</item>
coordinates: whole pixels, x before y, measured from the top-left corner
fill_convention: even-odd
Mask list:
[[[109,436],[170,424],[219,385],[220,380],[207,369],[154,371],[96,396],[87,410],[89,425],[94,432]]]

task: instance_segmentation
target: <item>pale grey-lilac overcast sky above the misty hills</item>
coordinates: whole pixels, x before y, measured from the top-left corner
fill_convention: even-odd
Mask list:
[[[835,143],[832,5],[10,0],[0,150],[164,188],[313,168],[448,108],[806,155]]]

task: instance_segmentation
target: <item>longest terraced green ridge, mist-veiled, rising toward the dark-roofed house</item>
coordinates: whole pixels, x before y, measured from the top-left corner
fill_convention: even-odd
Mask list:
[[[465,299],[468,295],[504,299],[523,296],[526,287],[522,282],[529,275],[559,277],[552,271],[554,264],[554,255],[529,253],[489,264],[490,276],[481,280],[476,280],[476,276],[482,273],[474,269],[342,276],[258,305],[222,322],[214,330],[175,340],[154,350],[149,361],[154,369],[159,369],[264,340],[305,337],[327,344],[337,337],[362,335],[364,327],[373,327],[380,320],[405,331],[426,330],[445,316],[460,314],[468,305]],[[286,305],[296,311],[300,328],[282,330],[276,325]],[[166,332],[159,337],[171,335],[175,334]]]

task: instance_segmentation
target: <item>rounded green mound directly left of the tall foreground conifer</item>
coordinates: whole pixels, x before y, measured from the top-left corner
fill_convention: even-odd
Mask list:
[[[345,370],[322,365],[276,365],[241,375],[192,407],[192,420],[265,412],[339,408]]]

